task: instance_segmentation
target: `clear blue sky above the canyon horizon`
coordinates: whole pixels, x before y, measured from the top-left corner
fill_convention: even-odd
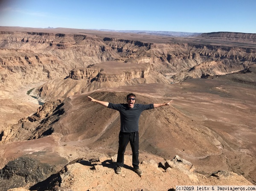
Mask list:
[[[0,0],[0,26],[256,33],[256,0]]]

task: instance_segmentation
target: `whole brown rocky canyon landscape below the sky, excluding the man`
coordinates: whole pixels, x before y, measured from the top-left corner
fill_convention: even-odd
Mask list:
[[[256,34],[169,37],[0,27],[0,79],[0,185],[5,190],[47,190],[46,180],[52,190],[126,190],[129,184],[118,185],[127,176],[135,182],[133,190],[256,183]],[[143,104],[174,100],[140,118],[140,160],[147,174],[140,177],[142,184],[129,167],[121,176],[112,169],[119,113],[87,100],[90,95],[125,103],[131,92]],[[194,174],[160,168],[176,155],[194,165]],[[14,172],[6,181],[13,161],[38,163],[45,174]],[[98,183],[81,179],[92,166]],[[228,173],[211,176],[216,171]],[[166,183],[148,183],[156,181],[155,174]]]

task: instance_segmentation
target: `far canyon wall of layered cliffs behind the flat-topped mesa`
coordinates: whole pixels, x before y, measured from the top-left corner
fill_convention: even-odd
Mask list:
[[[199,74],[192,75],[192,71],[194,66],[202,66],[203,63],[216,61],[222,63],[223,67],[208,65],[210,71],[205,72],[204,66],[201,75],[232,73],[256,63],[256,50],[253,48],[145,43],[110,37],[88,37],[84,34],[43,32],[2,31],[0,53],[1,86],[10,88],[65,77],[74,68],[110,60],[151,63],[154,71],[169,77],[168,80],[173,82],[187,77],[200,77]],[[172,78],[180,72],[183,77]],[[15,83],[12,83],[14,79]]]

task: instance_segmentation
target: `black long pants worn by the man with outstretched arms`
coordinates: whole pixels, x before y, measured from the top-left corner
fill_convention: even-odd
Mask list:
[[[124,166],[124,154],[125,154],[125,148],[130,142],[131,145],[131,151],[132,151],[132,165],[134,169],[139,168],[139,132],[133,132],[133,133],[119,133],[119,146],[118,146],[118,152],[117,152],[117,166],[123,167]]]

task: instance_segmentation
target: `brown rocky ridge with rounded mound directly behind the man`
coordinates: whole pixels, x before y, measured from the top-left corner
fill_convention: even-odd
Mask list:
[[[110,92],[95,92],[91,94],[92,97],[95,97],[96,99],[108,99],[114,103],[122,103],[122,98],[125,97],[125,93],[110,93]],[[79,139],[89,139],[90,141],[90,148],[94,148],[98,146],[103,146],[105,143],[102,143],[102,138],[109,139],[111,138],[111,143],[106,142],[107,144],[105,146],[112,147],[118,143],[117,138],[115,135],[117,134],[117,130],[119,128],[119,117],[115,111],[109,110],[108,108],[101,108],[100,105],[94,105],[93,103],[88,103],[88,101],[85,101],[87,97],[85,95],[81,95],[75,100],[66,99],[64,102],[60,103],[59,101],[56,102],[47,102],[43,106],[41,106],[38,111],[33,114],[31,117],[27,117],[25,119],[20,120],[19,123],[15,124],[14,126],[11,126],[11,129],[6,128],[5,131],[2,132],[3,135],[1,137],[1,143],[6,143],[6,141],[17,141],[17,140],[32,140],[37,139],[41,137],[48,136],[49,134],[52,134],[53,132],[62,134],[64,136],[68,137],[68,140],[70,141],[78,141]],[[146,103],[146,100],[150,102],[150,98],[147,97],[140,97],[140,103]],[[153,100],[151,101],[153,103]],[[78,116],[76,112],[73,111],[73,109],[77,110],[77,108],[73,108],[71,105],[79,103],[79,115],[86,115],[82,118],[78,118],[76,122],[69,124],[68,121],[70,121],[71,118],[77,118]],[[101,108],[100,110],[98,108]],[[83,108],[83,109],[81,109]],[[207,133],[207,136],[205,133],[202,134],[198,128],[194,128],[191,126],[191,122],[186,119],[186,117],[178,112],[177,110],[173,110],[172,112],[166,113],[166,120],[167,122],[159,122],[157,125],[154,125],[154,121],[156,121],[158,118],[163,117],[163,110],[166,109],[156,109],[154,113],[151,111],[145,111],[147,114],[147,117],[141,117],[140,121],[144,123],[145,126],[147,126],[147,130],[145,128],[141,128],[143,134],[148,134],[149,131],[155,132],[154,129],[158,130],[158,136],[160,137],[166,137],[167,134],[164,131],[165,127],[168,129],[168,131],[172,131],[172,134],[175,134],[179,131],[183,132],[183,138],[179,138],[176,140],[175,137],[173,137],[171,140],[175,140],[177,145],[185,142],[186,139],[189,141],[187,145],[183,145],[183,148],[189,148],[190,144],[194,145],[194,147],[197,147],[197,152],[194,152],[192,155],[195,156],[206,156],[208,154],[218,154],[218,140],[215,140],[213,138],[214,136],[212,134]],[[96,112],[92,112],[96,111]],[[89,114],[85,114],[89,113]],[[99,120],[95,119],[93,116],[100,116],[100,118],[107,118],[108,120],[104,120],[103,122],[99,122]],[[168,117],[167,117],[168,116]],[[148,117],[150,119],[148,119]],[[177,120],[177,121],[176,121]],[[86,121],[90,121],[90,123],[85,123]],[[170,126],[170,124],[173,124]],[[177,129],[177,126],[179,126],[179,129]],[[93,128],[93,131],[91,129]],[[190,128],[191,132],[185,131],[186,128]],[[163,129],[163,130],[160,130]],[[184,130],[180,130],[184,129]],[[148,132],[147,132],[148,131]],[[204,132],[204,130],[201,130]],[[156,132],[155,132],[156,133]],[[110,137],[108,137],[108,135]],[[101,137],[103,136],[103,137]],[[107,137],[106,137],[107,136]],[[151,138],[150,143],[154,143],[155,146],[162,145],[162,141],[157,140],[157,137]],[[169,135],[168,135],[169,136]],[[8,137],[8,138],[7,138]],[[147,137],[147,136],[145,136]],[[192,137],[200,137],[200,139],[196,140]],[[167,137],[166,137],[167,138]],[[214,139],[214,141],[212,141]],[[168,142],[170,142],[169,140]],[[211,140],[211,142],[210,142]],[[166,141],[166,140],[165,140]],[[141,140],[141,147],[145,149],[148,147],[149,140]],[[145,143],[143,143],[145,142]],[[167,144],[167,143],[165,143]],[[171,144],[171,142],[170,142]],[[199,145],[207,145],[207,150],[204,148],[200,148]],[[154,147],[155,147],[154,146]],[[153,151],[157,150],[156,148],[149,148],[153,149]],[[210,149],[211,148],[211,149]],[[151,151],[151,150],[150,150]],[[159,152],[159,151],[157,151]],[[163,148],[162,151],[165,154],[172,154],[173,151],[169,148]],[[208,153],[209,152],[209,153]]]

